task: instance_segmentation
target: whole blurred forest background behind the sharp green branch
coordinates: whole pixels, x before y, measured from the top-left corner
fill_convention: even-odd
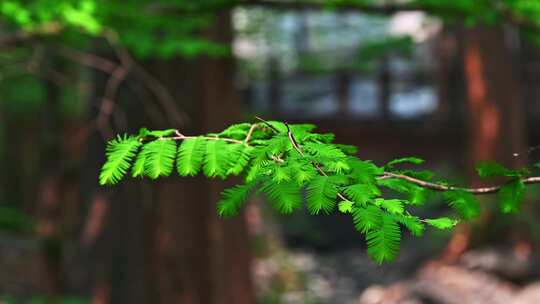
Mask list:
[[[535,187],[377,266],[344,215],[220,219],[234,180],[97,182],[118,133],[259,115],[483,185],[540,159],[539,46],[536,0],[1,0],[0,303],[540,303]]]

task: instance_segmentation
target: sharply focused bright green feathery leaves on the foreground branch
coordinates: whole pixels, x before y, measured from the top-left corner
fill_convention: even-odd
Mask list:
[[[241,123],[202,136],[143,128],[138,135],[119,136],[109,142],[99,182],[116,184],[128,172],[132,177],[150,179],[173,172],[209,178],[239,175],[243,182],[222,193],[217,204],[220,216],[238,214],[254,194],[264,196],[282,214],[305,208],[319,215],[337,209],[351,217],[377,263],[397,257],[403,231],[421,236],[427,226],[450,229],[458,219],[479,215],[480,205],[470,190],[432,182],[430,171],[397,168],[420,165],[423,160],[406,157],[377,166],[356,157],[356,149],[335,144],[333,139],[332,134],[314,132],[313,125],[277,121]],[[501,210],[519,210],[525,188],[522,178],[529,170],[483,163],[478,171],[483,177],[506,178],[499,191]],[[414,180],[445,188],[436,192]],[[438,194],[455,211],[455,218],[422,219],[411,214],[411,206],[421,206]]]

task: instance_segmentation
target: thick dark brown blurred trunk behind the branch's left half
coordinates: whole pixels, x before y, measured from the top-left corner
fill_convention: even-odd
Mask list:
[[[207,36],[230,45],[230,22],[229,12],[220,14]],[[221,130],[241,119],[232,57],[177,60],[160,70],[160,78],[190,114],[186,133]],[[205,178],[162,183],[155,256],[161,303],[255,302],[245,220],[217,217],[223,187]]]

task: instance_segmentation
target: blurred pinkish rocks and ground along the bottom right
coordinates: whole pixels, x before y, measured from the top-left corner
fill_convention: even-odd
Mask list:
[[[398,259],[379,266],[360,236],[358,246],[321,249],[291,241],[279,219],[264,221],[254,234],[261,304],[540,303],[540,256],[535,252],[485,247],[445,264],[437,261],[450,233],[428,231],[421,238],[405,236]]]

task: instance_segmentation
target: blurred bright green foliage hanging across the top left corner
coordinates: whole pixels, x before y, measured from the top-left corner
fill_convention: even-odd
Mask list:
[[[3,0],[0,23],[27,35],[87,44],[96,37],[121,43],[138,57],[223,56],[229,46],[201,35],[223,0]],[[179,18],[178,16],[181,16]]]

